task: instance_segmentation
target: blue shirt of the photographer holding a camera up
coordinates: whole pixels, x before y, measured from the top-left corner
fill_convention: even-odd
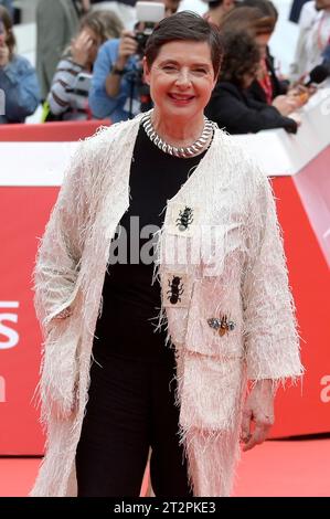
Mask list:
[[[136,72],[138,71],[137,56],[130,56],[126,64],[126,73],[120,81],[120,91],[116,97],[106,92],[106,78],[118,57],[119,40],[105,42],[97,54],[93,70],[92,87],[89,91],[89,106],[97,119],[110,118],[113,123],[129,118],[130,98],[132,98],[132,115],[138,114],[139,102],[137,95]]]

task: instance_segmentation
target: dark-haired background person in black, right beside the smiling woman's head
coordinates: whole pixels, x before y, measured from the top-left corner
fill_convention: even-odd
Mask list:
[[[243,8],[242,8],[243,9]],[[248,87],[258,73],[260,52],[254,39],[242,31],[224,34],[224,60],[206,115],[230,134],[255,134],[270,128],[297,131],[294,117],[285,117],[266,103],[255,100]]]

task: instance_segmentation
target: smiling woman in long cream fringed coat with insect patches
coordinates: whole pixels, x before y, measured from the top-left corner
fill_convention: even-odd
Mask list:
[[[150,446],[157,496],[228,495],[246,379],[248,449],[277,382],[301,373],[269,186],[203,116],[220,49],[202,18],[162,20],[145,60],[155,109],[83,142],[61,190],[35,271],[49,442],[34,496],[138,496]]]

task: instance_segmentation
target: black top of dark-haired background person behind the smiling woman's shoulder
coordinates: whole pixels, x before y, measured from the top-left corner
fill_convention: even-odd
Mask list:
[[[253,99],[230,82],[217,83],[205,114],[230,134],[256,134],[270,128],[284,128],[292,134],[297,131],[294,119],[280,115],[275,106]]]

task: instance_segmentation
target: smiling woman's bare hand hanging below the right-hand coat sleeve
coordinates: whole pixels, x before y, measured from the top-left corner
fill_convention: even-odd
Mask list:
[[[263,443],[274,424],[274,381],[259,380],[247,396],[243,407],[241,439],[243,451],[249,451]],[[252,431],[252,422],[255,426]]]

